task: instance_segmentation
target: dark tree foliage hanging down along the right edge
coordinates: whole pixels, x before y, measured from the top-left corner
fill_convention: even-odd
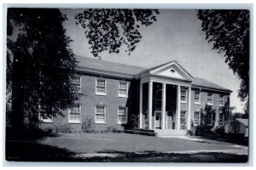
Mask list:
[[[224,53],[225,62],[241,79],[238,96],[246,101],[248,114],[249,92],[249,11],[248,10],[198,10],[202,31],[212,42],[212,49]]]

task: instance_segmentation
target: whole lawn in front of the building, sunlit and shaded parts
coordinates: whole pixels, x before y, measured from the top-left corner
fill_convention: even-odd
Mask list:
[[[234,153],[174,153],[188,150],[236,150],[215,140],[162,139],[129,133],[66,133],[37,141],[7,141],[9,161],[153,161],[245,162]]]

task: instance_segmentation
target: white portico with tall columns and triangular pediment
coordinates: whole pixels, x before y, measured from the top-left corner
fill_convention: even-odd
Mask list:
[[[193,77],[172,61],[140,76],[140,128],[189,130]]]

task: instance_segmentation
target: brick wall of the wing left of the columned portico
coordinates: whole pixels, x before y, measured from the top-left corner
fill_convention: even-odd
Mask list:
[[[107,107],[106,123],[94,123],[95,129],[102,131],[109,126],[124,129],[125,124],[118,124],[118,108],[119,106],[128,107],[128,116],[138,114],[139,109],[139,83],[135,80],[125,80],[113,77],[102,77],[107,80],[107,95],[96,94],[96,75],[80,74],[82,77],[81,94],[83,94],[77,104],[81,105],[81,118],[83,122],[86,116],[95,119],[96,105],[105,105]],[[100,77],[99,77],[100,78]],[[126,81],[129,83],[128,96],[129,98],[119,97],[118,89],[119,82]],[[53,123],[41,123],[41,127],[52,127],[57,124],[70,124],[73,131],[79,132],[82,130],[82,123],[69,123],[68,111],[63,111],[64,116],[57,116],[53,119]]]

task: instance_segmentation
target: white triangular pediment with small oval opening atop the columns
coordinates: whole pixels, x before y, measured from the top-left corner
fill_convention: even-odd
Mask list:
[[[150,71],[150,74],[160,77],[170,77],[188,81],[193,80],[193,77],[189,75],[189,73],[185,71],[181,65],[178,65],[177,61],[172,61],[166,65],[154,67]]]

